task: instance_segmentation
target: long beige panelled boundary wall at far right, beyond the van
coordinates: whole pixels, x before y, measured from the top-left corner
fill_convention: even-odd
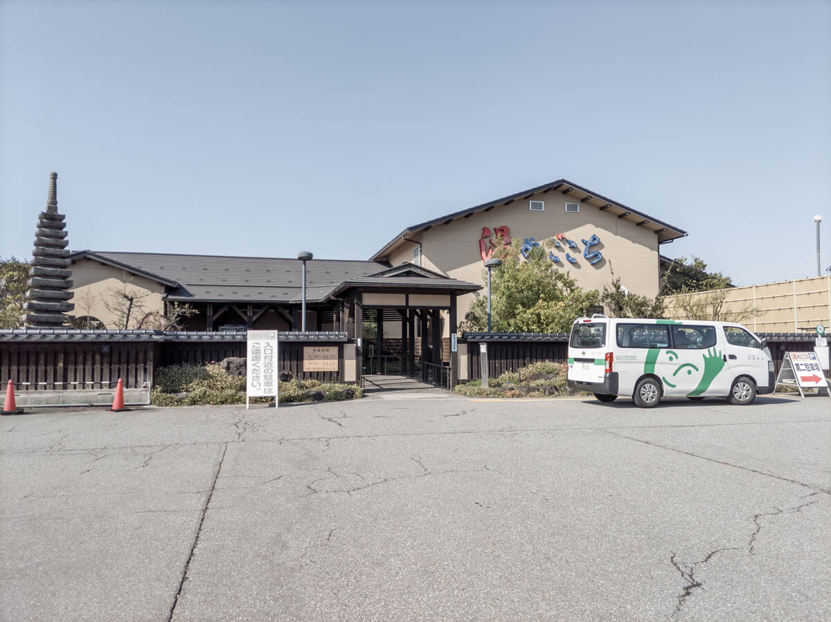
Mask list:
[[[796,281],[783,281],[734,287],[720,290],[725,293],[722,311],[735,313],[743,309],[755,309],[745,326],[755,332],[805,332],[818,324],[831,326],[831,277],[813,277]],[[701,300],[710,292],[693,294],[693,300]],[[682,296],[666,296],[667,317],[684,319],[679,306]]]

